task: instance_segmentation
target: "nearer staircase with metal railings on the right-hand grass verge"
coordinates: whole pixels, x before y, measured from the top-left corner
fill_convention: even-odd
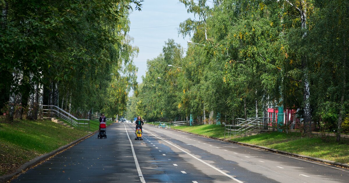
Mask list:
[[[246,135],[252,130],[269,130],[275,125],[275,121],[270,117],[250,117],[247,120],[242,118],[237,118],[235,120],[235,125],[225,125],[224,128],[224,138],[236,138]]]

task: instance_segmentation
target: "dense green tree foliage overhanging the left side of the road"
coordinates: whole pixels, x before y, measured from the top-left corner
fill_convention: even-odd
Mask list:
[[[54,105],[79,116],[122,113],[137,71],[128,15],[133,5],[140,10],[141,2],[1,1],[0,89],[12,85],[24,94],[38,83],[45,90],[59,83],[60,100]],[[17,72],[33,78],[20,83],[12,78]]]

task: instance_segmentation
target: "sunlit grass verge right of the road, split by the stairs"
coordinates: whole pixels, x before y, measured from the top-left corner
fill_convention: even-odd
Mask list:
[[[174,129],[216,138],[224,137],[224,128],[219,125],[180,126],[174,127]],[[292,132],[290,134],[269,132],[231,140],[341,163],[349,163],[348,144],[324,142],[324,140],[319,137],[302,137],[299,132]]]

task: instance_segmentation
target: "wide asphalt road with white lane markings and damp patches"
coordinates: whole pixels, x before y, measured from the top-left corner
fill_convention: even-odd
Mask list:
[[[114,123],[12,182],[349,182],[349,170],[169,129]]]

